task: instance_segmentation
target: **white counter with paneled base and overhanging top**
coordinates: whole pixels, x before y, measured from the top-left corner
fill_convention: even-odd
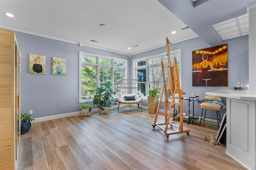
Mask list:
[[[256,93],[216,90],[206,95],[227,97],[226,154],[244,167],[256,169]]]

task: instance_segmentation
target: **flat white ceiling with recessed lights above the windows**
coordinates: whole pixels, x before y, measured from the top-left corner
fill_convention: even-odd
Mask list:
[[[0,0],[0,27],[126,55],[198,37],[157,0]]]

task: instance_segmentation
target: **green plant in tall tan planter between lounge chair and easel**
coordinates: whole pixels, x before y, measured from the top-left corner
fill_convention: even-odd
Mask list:
[[[160,91],[157,88],[148,90],[148,113],[156,113]]]

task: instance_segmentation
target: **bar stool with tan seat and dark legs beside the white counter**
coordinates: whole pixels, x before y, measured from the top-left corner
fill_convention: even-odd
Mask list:
[[[204,97],[204,99],[212,99],[212,100],[222,101],[222,99],[219,96],[213,96],[213,95],[208,95],[208,96]],[[201,121],[206,121],[205,118],[212,119],[212,118],[209,118],[209,117],[205,117],[206,110],[210,109],[210,110],[215,110],[216,111],[217,119],[215,119],[215,120],[217,120],[218,127],[219,127],[219,123],[221,123],[221,119],[220,119],[221,105],[219,105],[217,103],[203,102],[203,103],[200,103],[200,107],[202,108],[202,114],[201,114],[201,119],[200,119],[199,126],[201,125]],[[204,117],[202,117],[204,109],[205,109]],[[206,121],[206,122],[212,122],[212,121]],[[216,123],[216,122],[212,122],[212,123]]]

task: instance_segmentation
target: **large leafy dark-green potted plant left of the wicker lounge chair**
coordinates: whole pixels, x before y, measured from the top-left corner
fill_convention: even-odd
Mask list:
[[[94,99],[92,103],[94,107],[98,107],[100,114],[106,114],[108,108],[112,105],[116,105],[116,99],[114,98],[114,89],[112,89],[112,83],[106,81],[101,84],[100,87],[95,88],[96,93],[94,94]]]

